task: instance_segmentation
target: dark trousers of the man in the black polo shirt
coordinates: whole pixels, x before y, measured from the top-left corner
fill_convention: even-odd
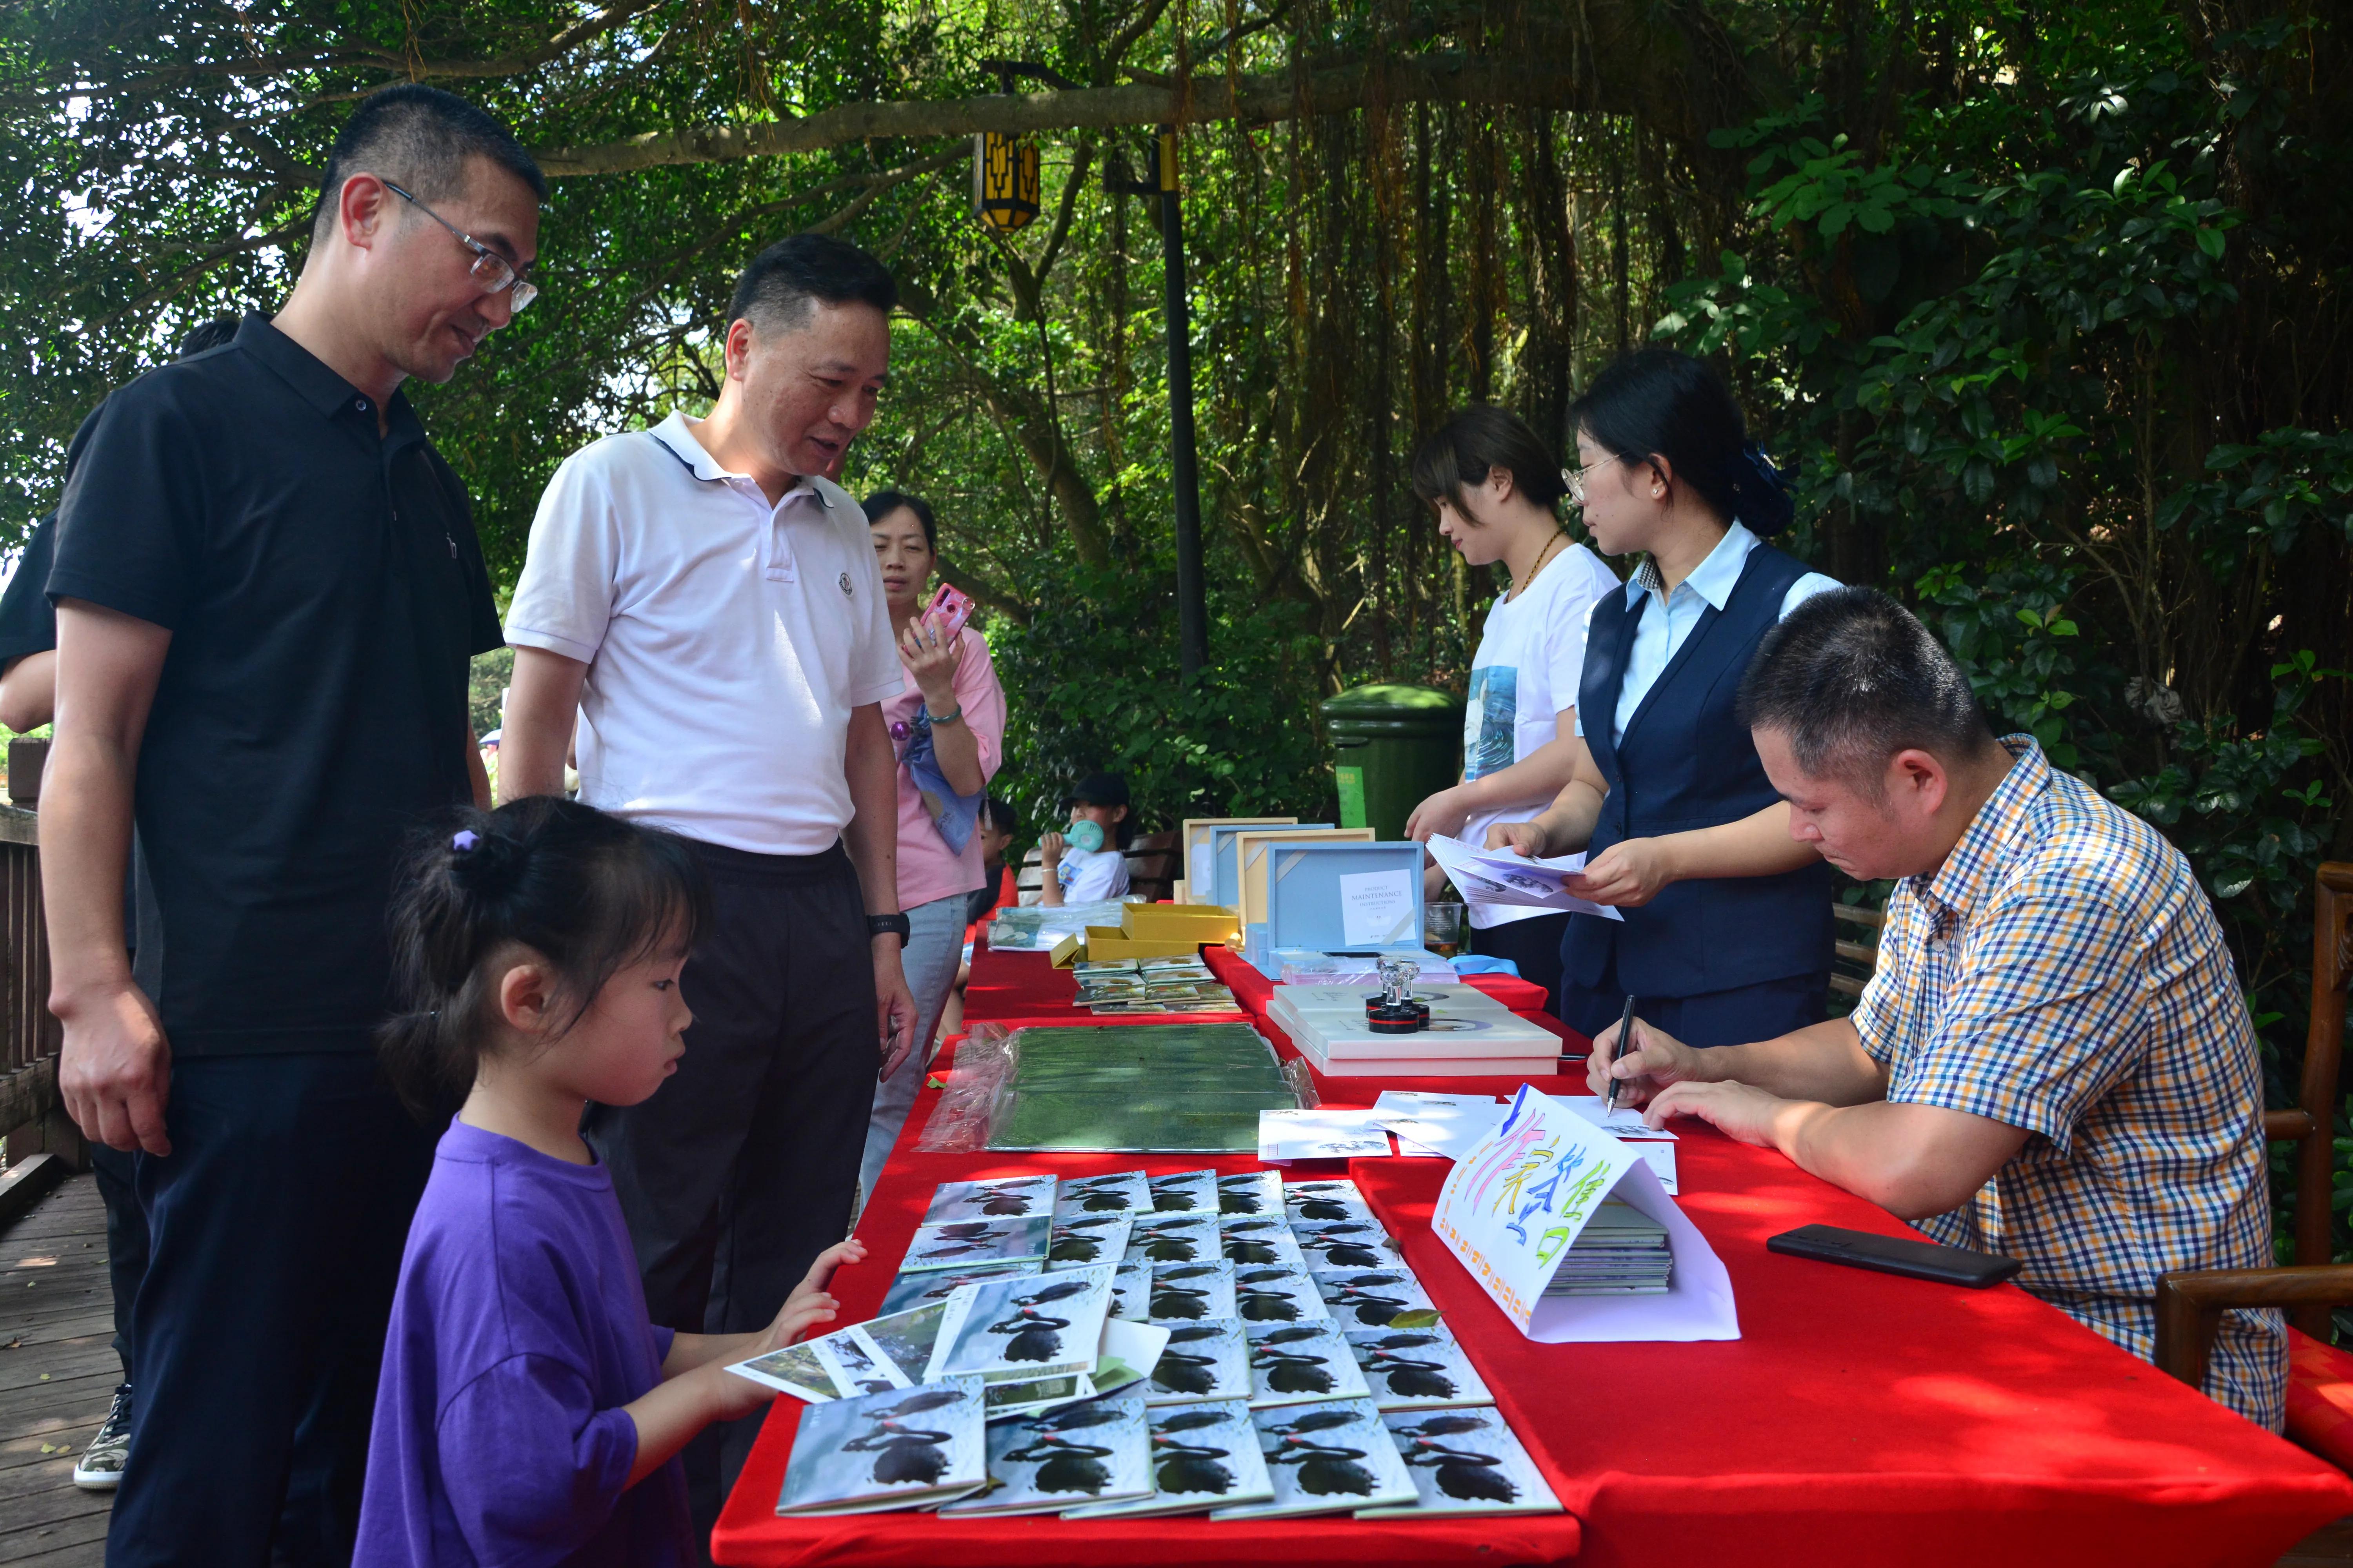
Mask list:
[[[132,1157],[151,1255],[108,1568],[348,1563],[400,1248],[433,1168],[367,1051],[184,1056]]]

